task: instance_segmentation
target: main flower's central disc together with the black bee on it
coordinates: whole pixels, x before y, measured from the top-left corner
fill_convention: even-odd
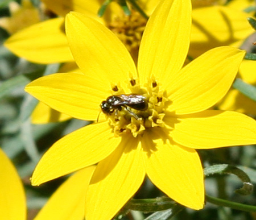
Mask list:
[[[120,86],[114,85],[113,96],[101,103],[114,134],[131,133],[137,137],[146,129],[165,127],[163,118],[170,102],[154,78],[144,87],[131,79],[128,88],[130,93],[124,94]]]

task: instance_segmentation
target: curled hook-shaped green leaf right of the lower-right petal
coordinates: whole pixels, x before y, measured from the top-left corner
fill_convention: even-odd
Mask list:
[[[225,175],[225,174],[233,174],[236,175],[242,182],[243,186],[240,189],[237,189],[235,192],[242,195],[249,195],[253,192],[253,184],[251,184],[251,180],[249,176],[243,172],[241,169],[229,165],[229,164],[217,164],[212,165],[210,167],[204,168],[204,175]]]

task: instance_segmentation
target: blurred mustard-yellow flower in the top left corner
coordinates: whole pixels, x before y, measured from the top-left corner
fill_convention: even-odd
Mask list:
[[[40,22],[39,11],[29,0],[22,0],[21,5],[14,1],[10,2],[9,10],[11,16],[0,18],[0,27],[10,34]]]

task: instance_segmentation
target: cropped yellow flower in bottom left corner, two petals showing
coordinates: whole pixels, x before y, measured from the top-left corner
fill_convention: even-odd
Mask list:
[[[25,220],[26,197],[22,182],[9,158],[0,148],[1,219]],[[90,166],[68,178],[36,215],[36,220],[82,219],[84,217],[85,195],[95,167]],[[61,211],[56,211],[61,210]]]

